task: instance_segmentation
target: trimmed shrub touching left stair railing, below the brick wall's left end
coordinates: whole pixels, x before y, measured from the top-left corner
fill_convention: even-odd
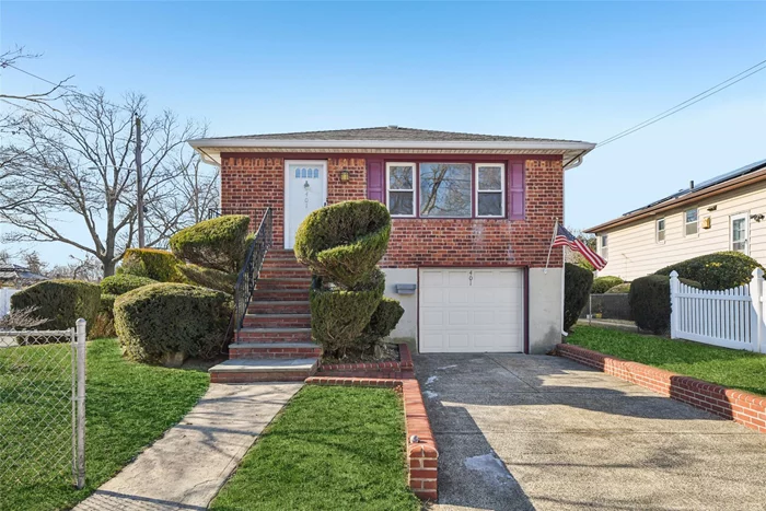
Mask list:
[[[246,214],[205,220],[173,234],[171,249],[188,263],[225,272],[239,271],[247,247],[248,227]]]

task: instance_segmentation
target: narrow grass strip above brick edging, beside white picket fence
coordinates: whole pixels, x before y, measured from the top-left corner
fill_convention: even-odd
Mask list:
[[[766,356],[578,325],[567,342],[707,382],[766,395]]]

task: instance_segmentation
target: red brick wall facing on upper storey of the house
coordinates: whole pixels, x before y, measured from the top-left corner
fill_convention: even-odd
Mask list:
[[[328,204],[367,198],[367,170],[363,158],[323,159],[328,162]],[[381,266],[544,267],[554,219],[561,219],[564,216],[561,159],[523,159],[525,162],[524,220],[394,219],[388,253]],[[263,210],[270,206],[274,210],[275,243],[278,246],[283,244],[285,158],[222,154],[221,161],[221,208],[224,211],[251,208]],[[340,181],[343,170],[349,172],[347,182]],[[560,248],[552,254],[550,266],[561,266]]]

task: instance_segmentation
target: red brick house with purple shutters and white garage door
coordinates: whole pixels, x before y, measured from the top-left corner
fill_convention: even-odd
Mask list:
[[[305,216],[373,199],[393,217],[381,260],[405,307],[394,338],[420,351],[544,352],[560,341],[564,170],[592,143],[396,126],[190,141],[221,167],[221,210],[274,211],[291,248]],[[414,294],[397,284],[416,284]]]

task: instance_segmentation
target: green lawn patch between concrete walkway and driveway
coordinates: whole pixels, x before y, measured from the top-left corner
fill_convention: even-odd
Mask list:
[[[309,385],[210,509],[417,510],[404,448],[403,404],[394,391]]]

